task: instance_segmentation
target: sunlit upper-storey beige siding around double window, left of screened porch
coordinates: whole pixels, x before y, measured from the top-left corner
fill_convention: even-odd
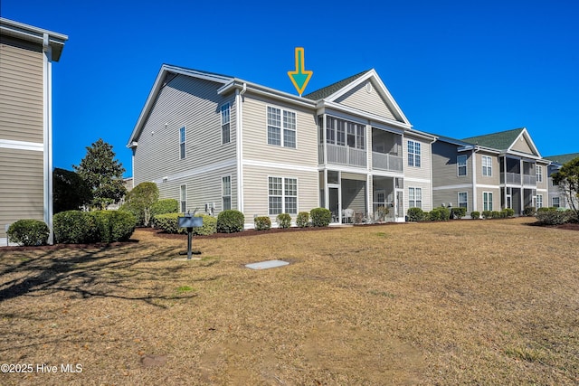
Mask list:
[[[243,97],[243,160],[306,167],[318,165],[318,125],[313,110],[271,102],[250,92]],[[268,107],[296,113],[295,148],[268,144]]]

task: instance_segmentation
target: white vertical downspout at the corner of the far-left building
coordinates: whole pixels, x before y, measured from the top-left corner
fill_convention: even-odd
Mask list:
[[[43,218],[52,244],[52,47],[48,33],[43,34],[43,52]]]

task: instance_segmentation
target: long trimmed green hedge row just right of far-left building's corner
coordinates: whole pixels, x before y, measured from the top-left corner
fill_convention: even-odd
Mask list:
[[[85,244],[127,241],[135,231],[137,219],[124,211],[66,211],[54,214],[54,242]]]

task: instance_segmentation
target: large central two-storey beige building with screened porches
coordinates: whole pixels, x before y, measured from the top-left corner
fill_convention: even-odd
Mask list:
[[[318,206],[334,222],[432,209],[434,136],[414,130],[374,70],[300,98],[234,77],[163,65],[128,140],[134,184],[182,212],[255,216]],[[353,215],[354,213],[354,215]]]

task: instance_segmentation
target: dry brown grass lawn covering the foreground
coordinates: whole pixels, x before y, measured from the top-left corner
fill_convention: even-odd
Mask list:
[[[579,231],[528,221],[0,249],[0,383],[577,384]]]

